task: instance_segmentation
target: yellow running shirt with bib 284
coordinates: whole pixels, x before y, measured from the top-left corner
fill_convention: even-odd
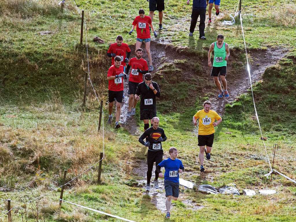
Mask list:
[[[213,122],[221,119],[221,116],[213,110],[210,110],[209,112],[205,112],[205,110],[197,111],[194,117],[199,119],[200,123],[198,127],[198,135],[213,134],[215,132]]]

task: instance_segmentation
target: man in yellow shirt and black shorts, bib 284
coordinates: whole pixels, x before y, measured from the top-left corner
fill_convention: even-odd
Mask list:
[[[210,152],[213,147],[214,142],[214,126],[218,126],[222,122],[221,116],[217,112],[210,110],[212,103],[210,101],[204,102],[204,109],[197,111],[193,116],[194,126],[197,125],[197,120],[199,119],[198,127],[198,146],[200,147],[200,153],[198,155],[200,159],[200,172],[204,172],[205,168],[203,167],[204,161],[204,152],[207,159],[211,158]],[[217,120],[217,122],[215,122]],[[207,148],[206,148],[207,146]]]

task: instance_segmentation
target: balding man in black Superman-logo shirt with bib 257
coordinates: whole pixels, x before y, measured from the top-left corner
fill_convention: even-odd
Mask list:
[[[161,142],[164,142],[167,137],[165,136],[165,131],[158,127],[159,125],[159,118],[154,117],[152,119],[153,126],[147,129],[143,135],[139,138],[139,142],[148,147],[147,152],[147,186],[146,190],[150,190],[150,180],[152,177],[152,169],[153,164],[155,162],[155,166],[159,164],[163,160],[163,148]],[[144,139],[147,137],[147,141],[144,142]],[[155,170],[155,180],[154,180],[154,187],[159,188],[158,186],[158,172]]]

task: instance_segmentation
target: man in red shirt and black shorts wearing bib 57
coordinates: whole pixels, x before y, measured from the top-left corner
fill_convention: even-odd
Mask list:
[[[123,72],[123,65],[121,65],[121,58],[119,56],[115,56],[114,58],[115,64],[112,65],[107,74],[108,84],[108,96],[109,96],[109,119],[108,124],[112,122],[112,110],[114,101],[116,100],[116,114],[115,114],[115,128],[119,128],[119,118],[121,112],[121,103],[123,97],[123,77],[127,79],[127,74]]]

